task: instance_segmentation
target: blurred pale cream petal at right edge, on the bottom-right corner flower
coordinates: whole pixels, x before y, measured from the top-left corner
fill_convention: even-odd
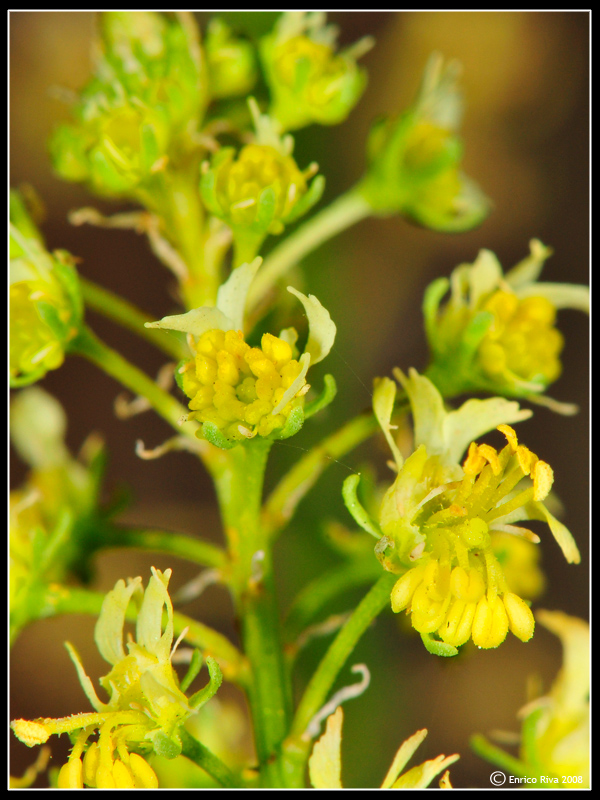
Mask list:
[[[539,609],[535,616],[563,645],[563,666],[550,694],[561,713],[577,714],[587,705],[590,691],[589,625],[562,611]]]

